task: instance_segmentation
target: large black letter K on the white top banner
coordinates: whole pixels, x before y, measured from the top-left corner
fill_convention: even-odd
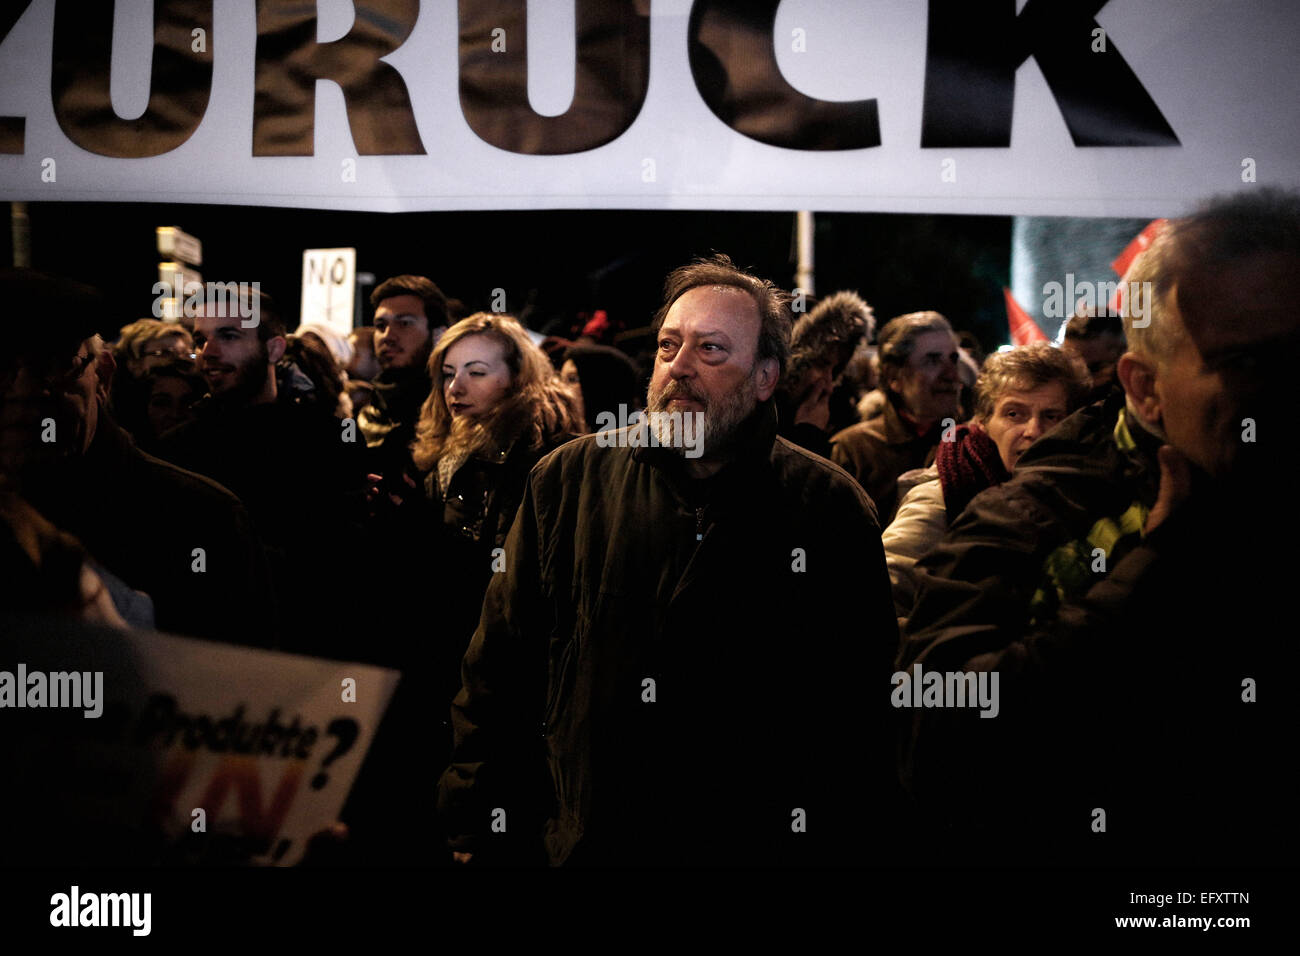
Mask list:
[[[1015,70],[1034,57],[1075,146],[1179,146],[1160,107],[1108,35],[1106,0],[930,0],[923,148],[1009,147]]]

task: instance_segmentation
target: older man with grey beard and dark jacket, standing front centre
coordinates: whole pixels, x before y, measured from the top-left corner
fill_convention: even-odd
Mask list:
[[[715,256],[668,277],[655,326],[649,411],[703,412],[702,454],[623,429],[533,470],[452,704],[452,848],[874,860],[896,786],[866,692],[889,670],[889,580],[862,489],[776,436],[789,297]]]

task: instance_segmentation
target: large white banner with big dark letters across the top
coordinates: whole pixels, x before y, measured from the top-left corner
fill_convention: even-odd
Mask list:
[[[1157,216],[1300,187],[1294,0],[32,0],[0,29],[4,199]]]

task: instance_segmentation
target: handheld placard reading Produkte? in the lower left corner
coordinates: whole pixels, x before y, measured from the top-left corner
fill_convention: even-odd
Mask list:
[[[157,845],[164,862],[291,865],[338,819],[398,678],[38,623],[0,640],[0,719],[20,735],[0,752],[90,845],[121,830],[135,851]],[[56,693],[69,682],[79,692],[72,702]]]

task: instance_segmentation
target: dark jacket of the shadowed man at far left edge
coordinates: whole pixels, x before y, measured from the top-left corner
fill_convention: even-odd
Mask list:
[[[248,512],[214,481],[140,451],[100,410],[86,454],[26,476],[29,501],[153,598],[160,631],[269,646],[274,605]],[[195,549],[203,549],[203,570]]]

